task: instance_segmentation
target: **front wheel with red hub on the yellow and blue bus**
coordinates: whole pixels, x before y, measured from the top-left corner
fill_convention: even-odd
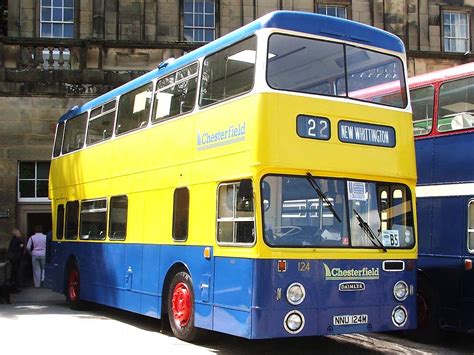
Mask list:
[[[168,319],[176,338],[192,342],[199,337],[194,326],[194,292],[191,276],[178,272],[168,291]]]

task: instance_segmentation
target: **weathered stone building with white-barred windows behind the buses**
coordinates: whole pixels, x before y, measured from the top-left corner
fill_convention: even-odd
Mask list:
[[[319,12],[399,36],[409,75],[471,61],[474,0],[1,0],[0,250],[50,228],[55,122],[169,57],[268,12]],[[4,254],[0,251],[0,260]]]

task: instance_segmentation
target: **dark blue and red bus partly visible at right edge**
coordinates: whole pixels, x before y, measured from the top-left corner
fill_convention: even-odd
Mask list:
[[[409,79],[418,167],[419,325],[474,331],[474,63]]]

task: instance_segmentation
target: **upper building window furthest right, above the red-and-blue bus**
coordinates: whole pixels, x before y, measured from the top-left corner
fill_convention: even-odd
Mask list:
[[[443,11],[443,44],[445,52],[469,51],[468,13]]]

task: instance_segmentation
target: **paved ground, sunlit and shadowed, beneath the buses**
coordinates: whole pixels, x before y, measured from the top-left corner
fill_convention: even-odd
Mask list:
[[[0,355],[9,354],[474,354],[472,335],[417,342],[409,334],[350,334],[250,341],[212,333],[198,344],[161,331],[161,322],[117,309],[69,309],[63,295],[26,288],[0,304]]]

